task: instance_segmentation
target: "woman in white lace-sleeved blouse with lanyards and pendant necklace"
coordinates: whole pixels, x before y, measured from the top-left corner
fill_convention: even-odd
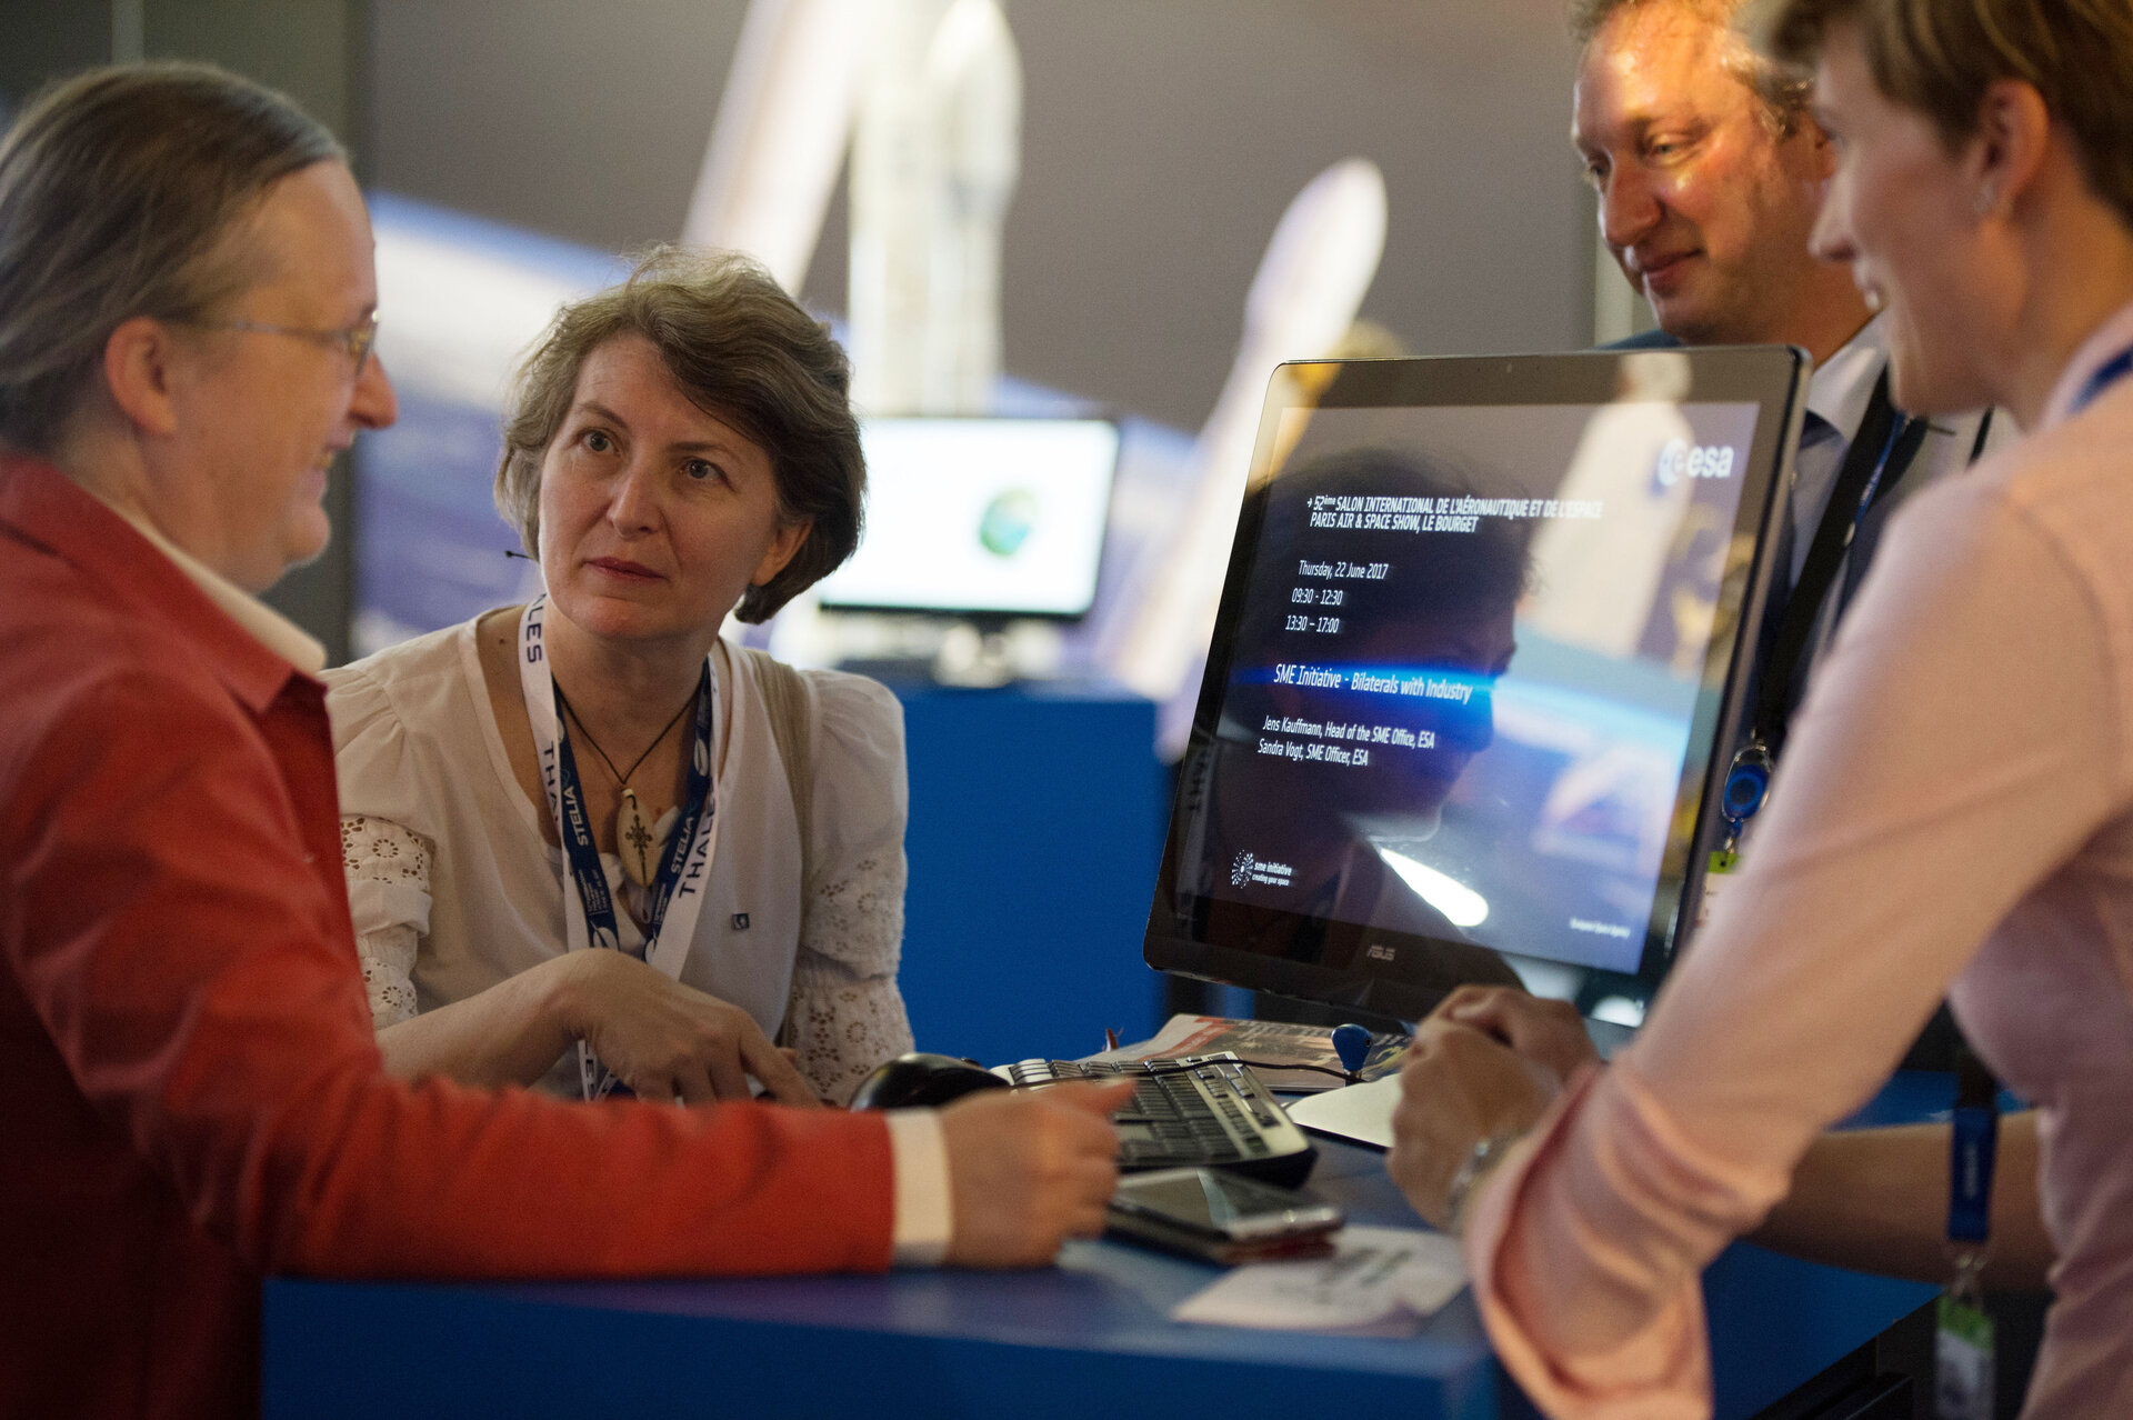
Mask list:
[[[732,254],[651,254],[527,358],[497,505],[546,597],[326,676],[390,1070],[808,1102],[911,1047],[900,708],[719,640],[857,544],[847,388]]]

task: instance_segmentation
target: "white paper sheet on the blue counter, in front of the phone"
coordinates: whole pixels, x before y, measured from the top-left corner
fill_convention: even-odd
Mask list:
[[[1177,1322],[1344,1330],[1423,1320],[1465,1286],[1459,1239],[1423,1228],[1342,1228],[1331,1258],[1252,1262],[1171,1309]]]

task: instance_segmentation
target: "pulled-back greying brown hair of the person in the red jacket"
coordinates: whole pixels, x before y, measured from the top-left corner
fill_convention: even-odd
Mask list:
[[[346,160],[290,98],[209,64],[94,68],[0,139],[0,441],[51,454],[137,316],[192,320],[254,277],[224,235]]]

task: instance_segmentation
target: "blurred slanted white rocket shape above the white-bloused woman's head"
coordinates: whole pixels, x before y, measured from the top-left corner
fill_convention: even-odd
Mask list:
[[[683,241],[736,247],[800,290],[851,134],[868,0],[753,0]]]

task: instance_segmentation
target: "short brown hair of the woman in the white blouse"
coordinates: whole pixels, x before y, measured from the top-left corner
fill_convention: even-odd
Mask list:
[[[770,454],[779,516],[808,535],[785,567],[740,597],[768,620],[860,546],[866,458],[851,414],[851,362],[757,262],[738,252],[653,247],[629,279],[557,311],[518,367],[497,467],[497,510],[540,556],[540,465],[578,392],[587,356],[640,335],[700,409]]]

